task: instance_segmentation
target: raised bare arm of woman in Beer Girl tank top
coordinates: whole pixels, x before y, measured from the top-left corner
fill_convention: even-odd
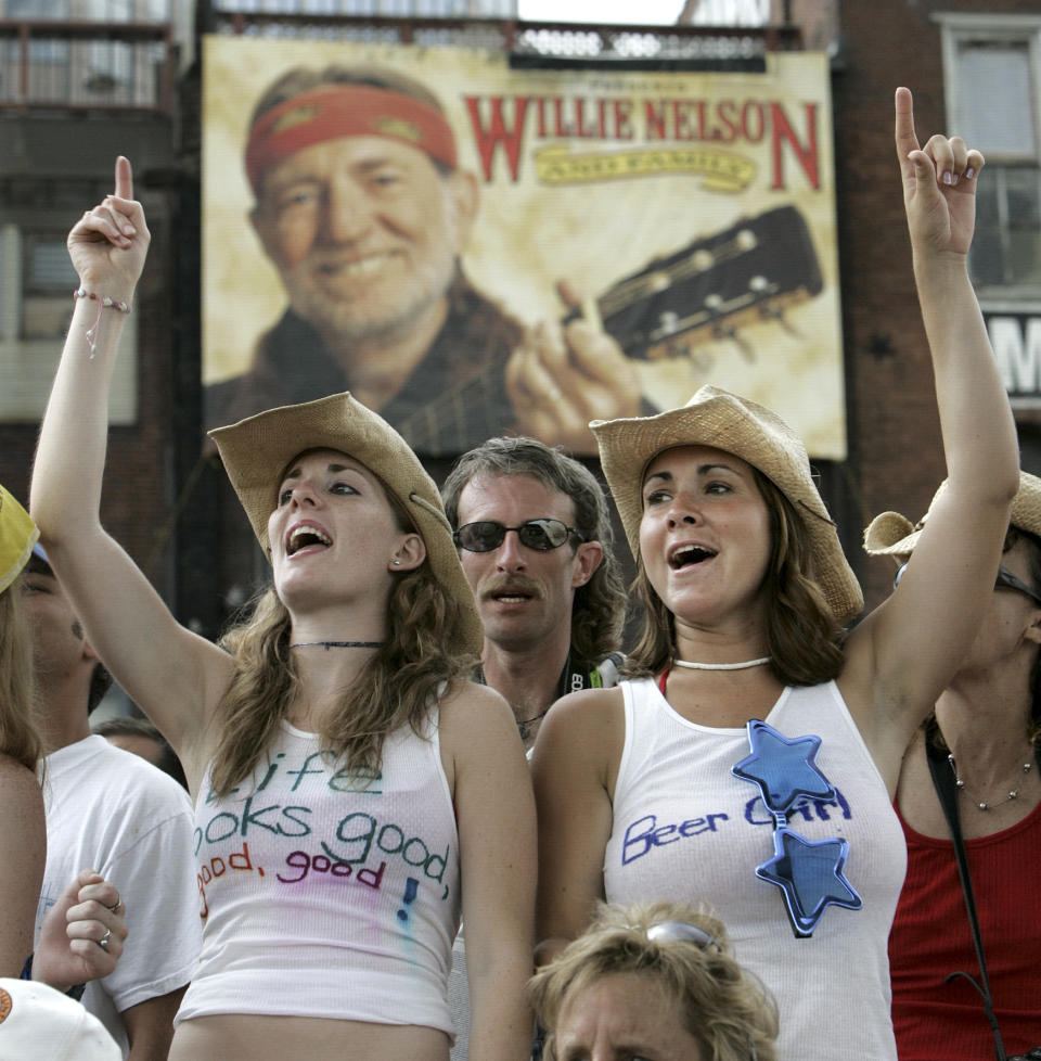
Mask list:
[[[979,628],[1019,473],[1008,398],[966,263],[984,157],[960,137],[934,136],[921,148],[905,88],[896,93],[896,146],[948,488],[899,590],[850,637],[840,680],[891,785],[915,727]]]

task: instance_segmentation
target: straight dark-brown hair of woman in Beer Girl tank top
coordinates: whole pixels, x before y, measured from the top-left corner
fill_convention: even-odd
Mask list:
[[[813,576],[813,550],[792,502],[758,469],[756,485],[770,513],[770,563],[763,577],[770,668],[786,686],[815,686],[843,669],[839,626]],[[637,558],[632,592],[643,606],[637,645],[626,661],[630,677],[660,674],[676,654],[676,621]]]

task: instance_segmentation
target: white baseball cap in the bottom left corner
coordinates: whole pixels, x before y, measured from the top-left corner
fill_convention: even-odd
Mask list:
[[[0,977],[0,1061],[123,1061],[104,1025],[31,980]]]

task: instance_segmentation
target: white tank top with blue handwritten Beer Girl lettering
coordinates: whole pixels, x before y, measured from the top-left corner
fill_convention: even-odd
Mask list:
[[[773,818],[731,767],[742,729],[677,714],[651,679],[625,681],[626,740],[604,859],[609,902],[705,903],[737,959],[773,993],[777,1061],[895,1061],[887,941],[907,869],[900,822],[835,682],[788,688],[766,717],[785,737],[822,739],[817,764],[835,800],[804,800],[788,824],[849,843],[845,874],[863,908],[824,910],[795,938],[779,887],[756,877],[773,856]]]

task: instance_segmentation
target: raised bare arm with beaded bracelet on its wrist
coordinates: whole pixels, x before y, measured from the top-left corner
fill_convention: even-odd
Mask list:
[[[91,644],[184,762],[189,737],[202,732],[230,678],[230,661],[177,624],[99,514],[108,387],[127,318],[120,305],[133,301],[149,240],[130,163],[120,157],[115,193],[68,235],[80,297],[40,430],[31,511]]]

